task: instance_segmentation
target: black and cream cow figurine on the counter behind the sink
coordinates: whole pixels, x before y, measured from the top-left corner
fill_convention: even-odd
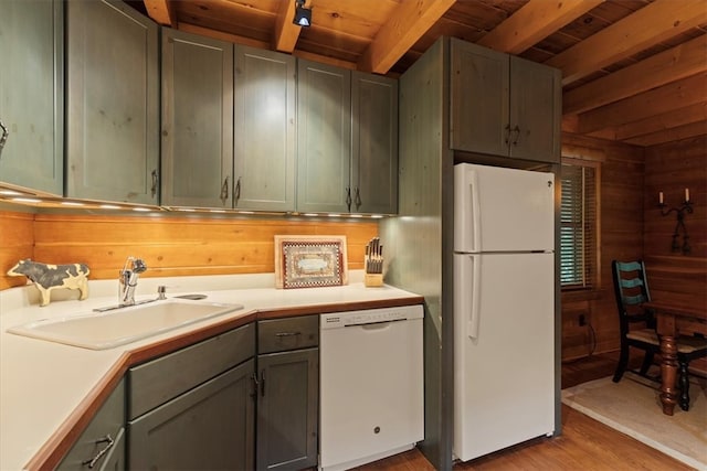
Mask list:
[[[8,270],[12,277],[25,276],[34,282],[40,290],[40,306],[46,306],[50,301],[50,292],[54,288],[77,289],[81,291],[78,299],[88,297],[88,274],[91,270],[84,264],[49,265],[32,261],[29,258],[20,260],[18,265]]]

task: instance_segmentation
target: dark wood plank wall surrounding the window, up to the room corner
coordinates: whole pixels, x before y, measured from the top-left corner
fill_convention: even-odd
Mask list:
[[[600,285],[591,292],[562,293],[562,360],[619,349],[619,318],[611,260],[643,256],[643,148],[562,135],[563,147],[597,149],[601,163]],[[588,324],[579,325],[583,314]]]

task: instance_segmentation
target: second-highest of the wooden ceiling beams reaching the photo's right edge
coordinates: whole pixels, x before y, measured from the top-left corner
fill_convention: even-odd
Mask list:
[[[562,95],[562,113],[582,113],[707,71],[707,34]]]

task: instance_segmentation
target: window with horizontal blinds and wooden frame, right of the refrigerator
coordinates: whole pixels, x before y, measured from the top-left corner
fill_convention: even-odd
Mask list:
[[[597,282],[598,168],[562,163],[560,208],[560,283],[587,289]]]

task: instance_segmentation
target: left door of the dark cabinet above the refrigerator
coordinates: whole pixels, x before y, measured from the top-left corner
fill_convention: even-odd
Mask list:
[[[451,40],[451,148],[508,154],[508,55]]]

